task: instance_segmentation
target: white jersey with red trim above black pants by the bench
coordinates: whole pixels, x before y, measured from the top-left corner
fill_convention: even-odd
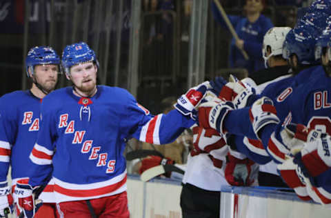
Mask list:
[[[228,146],[214,129],[193,127],[194,147],[188,155],[183,184],[191,184],[204,190],[220,191],[229,186],[224,169]]]

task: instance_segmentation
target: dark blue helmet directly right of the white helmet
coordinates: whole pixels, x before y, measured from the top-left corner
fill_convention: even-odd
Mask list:
[[[314,28],[300,26],[288,32],[283,43],[283,58],[290,59],[296,54],[299,63],[312,64],[314,59],[315,39],[312,34]]]

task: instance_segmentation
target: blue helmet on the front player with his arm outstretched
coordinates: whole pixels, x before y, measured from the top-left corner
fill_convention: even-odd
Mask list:
[[[63,50],[61,63],[67,75],[69,75],[72,66],[90,61],[96,63],[99,68],[99,62],[94,51],[84,42],[73,43]]]

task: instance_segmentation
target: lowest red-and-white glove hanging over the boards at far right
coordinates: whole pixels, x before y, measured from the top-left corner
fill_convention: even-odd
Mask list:
[[[303,175],[301,168],[297,164],[294,164],[293,158],[287,159],[283,164],[279,164],[277,170],[285,183],[294,189],[298,197],[303,199],[303,201],[311,200],[308,193],[308,189],[310,188],[309,178]],[[306,186],[307,182],[308,187]]]

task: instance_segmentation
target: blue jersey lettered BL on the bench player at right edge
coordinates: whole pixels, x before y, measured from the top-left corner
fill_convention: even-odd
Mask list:
[[[312,72],[309,82],[298,86],[290,97],[292,123],[328,132],[331,135],[331,77],[325,74],[323,66]],[[280,128],[276,128],[279,130]],[[275,132],[277,135],[277,132]],[[277,140],[277,139],[274,139]],[[328,145],[326,145],[328,146]],[[330,156],[329,152],[323,155]],[[314,177],[314,192],[324,204],[331,203],[331,170]]]

